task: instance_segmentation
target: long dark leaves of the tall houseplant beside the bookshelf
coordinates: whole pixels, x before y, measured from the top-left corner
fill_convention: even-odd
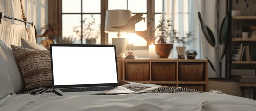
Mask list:
[[[230,37],[227,36],[228,33],[228,15],[225,16],[225,18],[223,19],[222,23],[221,23],[221,27],[220,27],[220,31],[218,34],[218,40],[215,40],[214,34],[211,31],[211,29],[205,25],[200,12],[198,12],[198,17],[201,23],[201,28],[203,31],[203,34],[205,36],[205,38],[207,39],[208,43],[215,48],[216,51],[216,56],[218,59],[218,74],[219,77],[221,78],[222,76],[222,60],[224,58],[224,56],[227,54],[227,50],[228,50],[228,41],[230,40]],[[216,43],[217,42],[217,43]],[[217,45],[216,45],[217,44]],[[221,48],[221,45],[223,45],[223,47]],[[222,52],[221,52],[222,50]],[[206,57],[211,68],[215,70],[212,62],[208,59],[208,57]]]

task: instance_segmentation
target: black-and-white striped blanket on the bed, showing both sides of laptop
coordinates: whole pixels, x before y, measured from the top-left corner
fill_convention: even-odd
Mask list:
[[[168,86],[162,86],[159,88],[155,88],[153,90],[146,90],[146,91],[142,91],[145,90],[147,88],[150,87],[127,87],[127,89],[130,89],[132,91],[135,91],[135,93],[132,94],[143,94],[143,93],[178,93],[178,92],[200,92],[197,91],[196,89],[189,89],[189,88],[175,88],[175,87],[168,87]],[[142,92],[141,92],[142,91]],[[136,93],[138,92],[138,93]],[[39,87],[36,89],[32,89],[29,91],[25,91],[23,93],[20,94],[31,94],[31,95],[37,95],[37,94],[42,94],[42,93],[55,93],[57,95],[59,95],[58,93],[56,93],[53,88],[46,88],[46,87]]]

